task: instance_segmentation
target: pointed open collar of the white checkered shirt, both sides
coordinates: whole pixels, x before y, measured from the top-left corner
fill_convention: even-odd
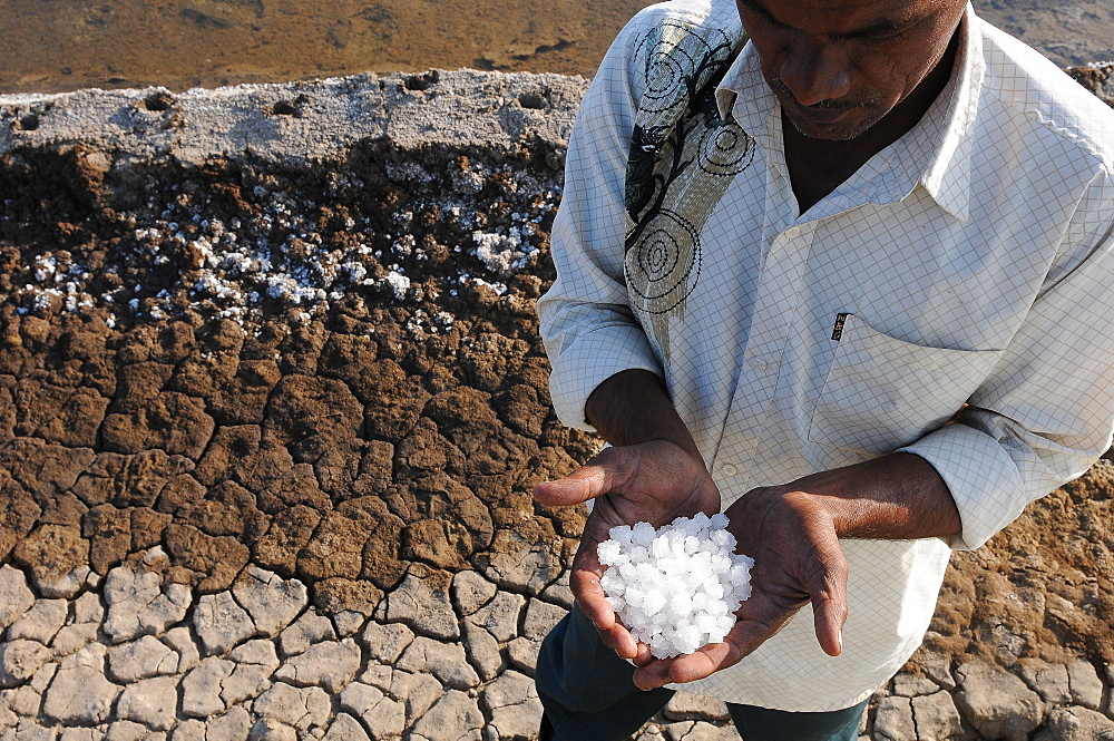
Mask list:
[[[960,43],[948,86],[921,120],[898,142],[876,155],[867,167],[885,167],[874,179],[873,199],[893,202],[917,184],[948,213],[966,221],[970,204],[970,131],[985,74],[979,20],[970,3],[960,21]],[[781,105],[762,77],[758,52],[750,42],[715,91],[721,116],[733,116],[764,146],[783,146]]]

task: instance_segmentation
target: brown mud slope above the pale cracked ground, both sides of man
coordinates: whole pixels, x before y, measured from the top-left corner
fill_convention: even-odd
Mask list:
[[[1098,89],[1110,70],[1079,75]],[[173,113],[165,92],[135,97]],[[280,103],[268,116],[300,115]],[[47,115],[8,106],[0,125]],[[509,559],[535,582],[500,588],[556,582],[584,514],[530,488],[599,445],[556,420],[537,337],[563,156],[529,137],[370,138],[299,166],[0,154],[0,564],[37,599],[98,593],[125,565],[197,601],[262,568],[349,618],[381,617],[408,573],[443,585]],[[955,555],[908,672],[1082,657],[1101,675],[1112,571],[1100,461]],[[967,719],[954,732],[981,738]]]

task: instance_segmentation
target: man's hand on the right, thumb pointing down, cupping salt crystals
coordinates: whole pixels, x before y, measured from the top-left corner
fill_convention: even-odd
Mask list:
[[[722,643],[639,667],[634,682],[643,690],[693,682],[739,663],[809,602],[820,646],[832,656],[843,649],[848,566],[834,519],[820,499],[791,487],[766,487],[747,493],[725,514],[736,549],[754,558],[751,596]]]

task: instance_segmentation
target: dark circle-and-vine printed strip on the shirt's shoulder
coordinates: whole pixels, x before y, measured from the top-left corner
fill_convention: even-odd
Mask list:
[[[720,115],[715,87],[746,42],[719,29],[668,20],[639,40],[646,90],[626,169],[624,272],[631,305],[668,360],[671,316],[684,316],[700,281],[700,234],[754,140]]]

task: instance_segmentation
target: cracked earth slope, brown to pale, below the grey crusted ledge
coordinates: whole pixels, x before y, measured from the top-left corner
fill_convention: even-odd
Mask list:
[[[469,79],[570,120],[551,79]],[[361,86],[245,95],[313,121]],[[67,100],[0,100],[0,739],[535,738],[584,515],[529,491],[599,445],[550,411],[534,316],[561,143],[36,145]],[[1100,461],[955,556],[863,738],[1114,738],[1112,566]],[[684,693],[638,735],[732,738]]]

